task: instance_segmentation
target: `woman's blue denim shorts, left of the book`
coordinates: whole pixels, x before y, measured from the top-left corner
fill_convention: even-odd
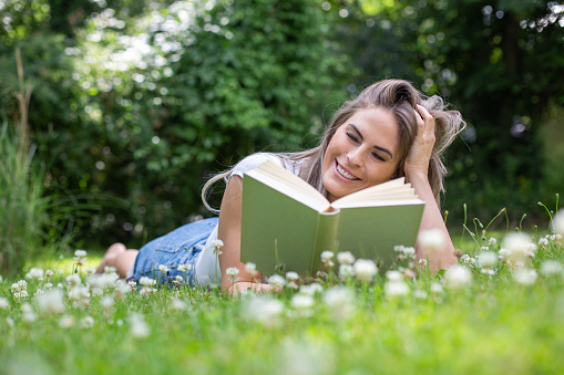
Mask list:
[[[133,279],[139,281],[142,277],[148,277],[157,280],[161,285],[172,285],[177,275],[186,275],[184,281],[195,287],[197,257],[217,221],[218,218],[194,221],[144,244],[133,265]],[[168,268],[165,273],[158,270],[161,264]],[[185,274],[178,271],[178,264],[192,264],[192,269]]]

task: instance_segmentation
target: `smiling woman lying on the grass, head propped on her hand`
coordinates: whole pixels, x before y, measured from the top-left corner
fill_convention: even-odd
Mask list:
[[[218,282],[215,274],[221,273],[222,287],[229,292],[248,288],[268,290],[268,285],[253,282],[239,260],[243,176],[266,160],[298,175],[329,201],[404,176],[425,202],[420,232],[435,229],[448,239],[442,250],[432,253],[427,253],[418,241],[417,258],[429,259],[432,270],[445,269],[455,264],[457,258],[440,211],[447,171],[441,155],[463,126],[460,113],[447,111],[440,97],[425,97],[402,80],[377,82],[355,100],[343,103],[318,147],[300,153],[255,154],[207,181],[202,196],[208,209],[207,188],[221,178],[227,181],[218,220],[212,218],[186,225],[140,251],[115,243],[102,259],[98,272],[111,265],[120,275],[139,280],[142,275],[164,277],[158,271],[164,264],[168,270],[163,269],[163,272],[171,278],[183,274],[175,264],[191,264],[188,281],[192,284]],[[225,243],[221,248],[219,264],[217,239]],[[239,281],[235,284],[226,275],[228,268],[239,270]]]

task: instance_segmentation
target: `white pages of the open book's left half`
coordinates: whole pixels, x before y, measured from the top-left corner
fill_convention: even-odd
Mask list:
[[[318,211],[330,207],[329,201],[311,185],[273,162],[263,163],[247,175]]]

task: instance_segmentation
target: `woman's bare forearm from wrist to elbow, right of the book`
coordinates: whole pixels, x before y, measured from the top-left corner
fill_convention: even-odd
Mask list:
[[[454,246],[452,244],[452,240],[450,238],[449,231],[447,230],[447,226],[444,225],[441,210],[437,205],[427,176],[422,174],[412,174],[410,176],[408,175],[407,177],[408,181],[416,189],[419,198],[425,202],[423,217],[421,219],[421,226],[419,228],[419,235],[421,235],[422,231],[434,229],[439,230],[439,232],[442,233],[442,237],[444,238],[442,248],[433,251],[432,249],[425,249],[419,239],[420,236],[418,236],[418,241],[416,243],[417,258],[428,259],[429,267],[433,271],[447,269],[457,264],[458,260],[454,256]]]

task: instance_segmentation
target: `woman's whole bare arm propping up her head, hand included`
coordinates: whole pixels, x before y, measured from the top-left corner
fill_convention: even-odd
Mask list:
[[[417,118],[419,128],[413,146],[411,146],[406,159],[406,178],[413,186],[419,198],[425,202],[419,233],[429,229],[438,229],[443,233],[445,243],[442,249],[428,252],[418,240],[416,254],[418,259],[429,258],[429,267],[431,270],[438,271],[457,264],[458,261],[454,257],[454,246],[444,225],[441,210],[437,206],[428,178],[429,160],[434,145],[434,118],[420,105],[418,105]]]

